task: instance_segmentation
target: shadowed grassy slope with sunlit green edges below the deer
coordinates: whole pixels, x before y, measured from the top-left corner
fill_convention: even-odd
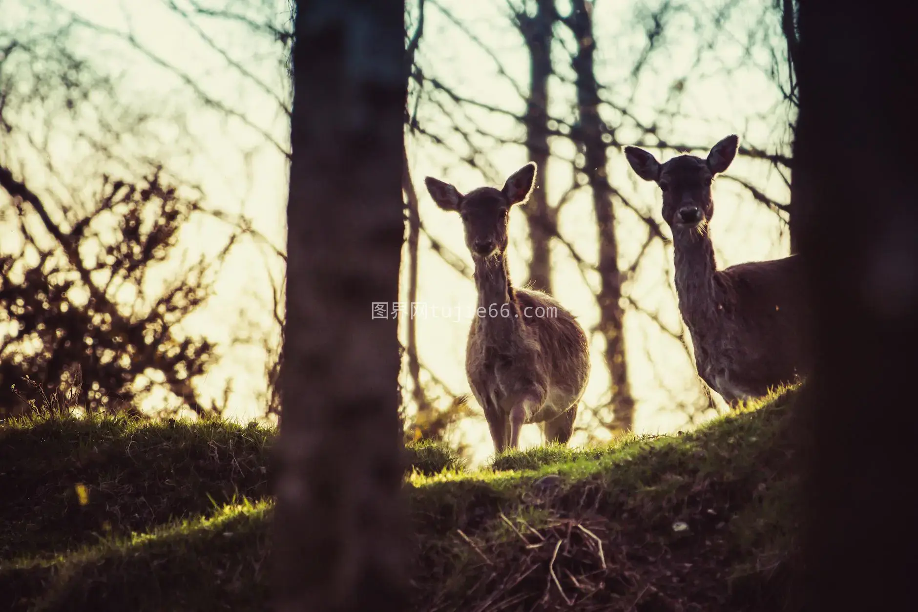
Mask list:
[[[795,514],[791,400],[684,436],[411,476],[415,609],[762,609],[781,593]],[[0,609],[268,610],[270,436],[113,420],[0,430]],[[451,460],[413,458],[428,472]]]

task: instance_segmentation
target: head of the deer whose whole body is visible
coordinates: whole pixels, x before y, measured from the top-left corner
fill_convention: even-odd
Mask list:
[[[522,166],[501,189],[478,187],[465,196],[449,183],[431,176],[424,179],[424,184],[437,206],[462,216],[465,245],[472,255],[487,258],[507,250],[509,210],[529,198],[535,184],[535,164]]]

